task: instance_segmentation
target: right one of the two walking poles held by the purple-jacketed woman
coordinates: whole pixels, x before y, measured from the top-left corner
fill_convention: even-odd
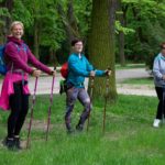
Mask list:
[[[56,70],[56,67],[54,67],[54,70]],[[52,105],[53,105],[54,81],[55,81],[55,76],[53,76],[53,79],[52,79],[52,89],[51,89],[51,95],[50,95],[50,107],[48,107],[48,117],[47,117],[46,141],[48,139],[48,132],[50,132],[51,112],[52,112],[51,110],[52,110]]]

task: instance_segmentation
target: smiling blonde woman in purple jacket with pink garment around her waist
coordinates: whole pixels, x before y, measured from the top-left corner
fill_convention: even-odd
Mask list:
[[[3,144],[11,150],[21,148],[20,131],[29,109],[29,74],[38,77],[42,70],[55,76],[55,72],[38,62],[21,40],[23,30],[22,22],[14,21],[11,24],[11,35],[8,36],[4,50],[8,73],[2,85],[0,107],[3,110],[11,109],[8,118],[8,135],[3,141]],[[28,63],[31,63],[38,70],[29,66]]]

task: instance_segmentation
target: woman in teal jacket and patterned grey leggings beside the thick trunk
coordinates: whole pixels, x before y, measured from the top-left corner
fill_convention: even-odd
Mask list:
[[[106,76],[109,75],[109,70],[94,69],[92,65],[85,57],[82,52],[82,41],[74,40],[72,42],[74,53],[68,58],[68,76],[67,76],[67,91],[66,91],[66,114],[65,124],[68,133],[74,130],[70,124],[70,114],[74,109],[74,105],[78,99],[84,106],[84,111],[80,116],[79,122],[76,125],[76,130],[81,131],[84,123],[91,110],[91,102],[88,92],[85,89],[85,77]]]

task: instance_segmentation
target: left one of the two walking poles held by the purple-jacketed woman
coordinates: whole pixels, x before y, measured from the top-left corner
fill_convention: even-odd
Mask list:
[[[26,148],[28,148],[29,145],[30,145],[30,135],[31,135],[31,128],[32,128],[32,121],[33,121],[33,110],[34,110],[34,103],[35,103],[36,87],[37,87],[37,77],[35,78],[35,86],[34,86],[33,101],[32,101],[32,107],[31,107],[31,119],[30,119],[30,124],[29,124]]]

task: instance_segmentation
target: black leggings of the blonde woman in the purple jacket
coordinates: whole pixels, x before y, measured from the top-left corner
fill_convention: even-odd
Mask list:
[[[14,94],[10,96],[11,113],[8,118],[8,138],[20,134],[29,110],[29,95],[23,94],[23,85],[13,84]]]

